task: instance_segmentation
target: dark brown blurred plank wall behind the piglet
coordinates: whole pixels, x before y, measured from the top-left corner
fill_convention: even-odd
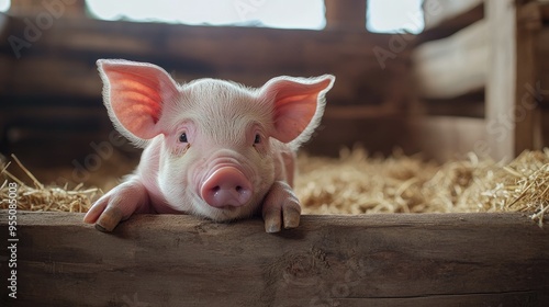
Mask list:
[[[333,73],[337,81],[326,115],[307,151],[337,155],[355,143],[384,154],[394,147],[415,151],[404,117],[412,36],[372,34],[361,22],[346,22],[351,15],[365,19],[349,7],[352,1],[327,2],[324,31],[98,21],[82,3],[66,4],[36,38],[29,24],[47,14],[42,1],[15,1],[11,16],[2,15],[2,154],[36,167],[71,167],[94,152],[90,143],[109,141],[113,128],[100,96],[98,58],[154,62],[181,82],[211,77],[258,87],[279,75]],[[37,157],[36,148],[47,150]]]

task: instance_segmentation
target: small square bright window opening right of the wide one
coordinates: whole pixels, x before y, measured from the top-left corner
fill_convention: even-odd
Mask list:
[[[369,0],[366,27],[376,33],[423,31],[422,0]]]

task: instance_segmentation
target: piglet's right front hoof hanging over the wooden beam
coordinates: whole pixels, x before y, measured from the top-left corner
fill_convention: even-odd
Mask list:
[[[300,225],[301,206],[292,189],[284,182],[276,182],[267,195],[262,216],[265,231],[272,234]]]

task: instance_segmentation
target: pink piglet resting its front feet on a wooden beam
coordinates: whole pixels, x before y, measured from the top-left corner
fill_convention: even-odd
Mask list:
[[[141,213],[216,221],[261,213],[267,232],[299,225],[294,152],[317,127],[334,76],[277,77],[250,89],[216,79],[178,84],[146,62],[100,59],[98,67],[111,121],[145,149],[85,223],[111,231]]]

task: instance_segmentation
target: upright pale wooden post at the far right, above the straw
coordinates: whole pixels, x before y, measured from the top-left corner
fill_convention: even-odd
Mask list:
[[[491,156],[509,160],[537,149],[539,107],[529,89],[536,84],[534,48],[536,3],[486,0],[492,62],[486,82],[486,136]]]

